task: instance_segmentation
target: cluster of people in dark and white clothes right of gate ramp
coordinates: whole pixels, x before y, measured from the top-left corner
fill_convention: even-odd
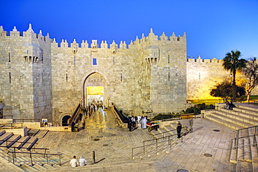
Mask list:
[[[137,128],[137,125],[141,124],[141,128],[145,129],[147,124],[146,116],[132,116],[128,118],[128,128],[132,132],[133,129]]]

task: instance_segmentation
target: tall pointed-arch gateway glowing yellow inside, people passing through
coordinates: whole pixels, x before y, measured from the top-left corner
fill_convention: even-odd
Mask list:
[[[103,75],[93,72],[86,77],[83,85],[83,106],[88,108],[91,104],[107,107],[107,82]]]

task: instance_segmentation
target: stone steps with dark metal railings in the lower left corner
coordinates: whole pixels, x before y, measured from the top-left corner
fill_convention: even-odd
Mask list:
[[[49,150],[35,149],[38,137],[43,138],[47,132],[47,130],[29,130],[29,136],[21,136],[2,130],[0,132],[1,161],[10,162],[8,166],[10,169],[15,169],[14,171],[18,171],[16,167],[19,167],[21,171],[47,171],[56,166],[59,167],[59,155],[55,155],[59,154],[58,152],[51,151],[50,153]],[[44,157],[45,151],[47,155]],[[32,153],[31,157],[30,153]],[[62,159],[63,164],[68,161],[70,159]]]

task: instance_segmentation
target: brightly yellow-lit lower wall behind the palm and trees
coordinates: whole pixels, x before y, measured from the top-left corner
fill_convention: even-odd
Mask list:
[[[187,98],[188,100],[221,99],[210,95],[211,89],[222,81],[232,82],[231,72],[222,67],[222,60],[216,58],[188,58],[187,60]],[[236,84],[241,85],[245,76],[236,72]],[[257,95],[258,89],[252,91]]]

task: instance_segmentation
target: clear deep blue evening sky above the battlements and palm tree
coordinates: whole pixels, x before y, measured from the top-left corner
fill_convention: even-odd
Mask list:
[[[163,31],[187,36],[188,56],[224,58],[238,49],[242,58],[258,56],[257,0],[0,0],[0,25],[5,31],[50,33],[66,39],[113,40],[117,44]]]

